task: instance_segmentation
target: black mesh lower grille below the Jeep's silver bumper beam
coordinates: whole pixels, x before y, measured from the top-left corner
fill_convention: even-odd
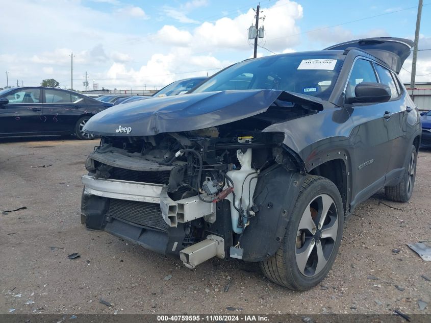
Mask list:
[[[117,200],[111,198],[108,214],[137,225],[167,231],[168,225],[163,219],[159,204]]]

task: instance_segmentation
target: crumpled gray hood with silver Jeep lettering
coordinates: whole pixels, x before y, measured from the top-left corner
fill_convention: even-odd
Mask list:
[[[155,97],[97,113],[84,130],[102,136],[153,136],[204,129],[265,112],[277,100],[313,102],[319,98],[281,90],[228,90]]]

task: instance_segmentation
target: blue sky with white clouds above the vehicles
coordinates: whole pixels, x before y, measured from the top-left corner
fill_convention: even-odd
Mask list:
[[[262,0],[265,38],[258,55],[309,51],[363,37],[414,38],[417,1]],[[431,49],[431,2],[422,10],[419,49]],[[340,4],[343,4],[340,6]],[[252,56],[246,0],[14,0],[0,11],[0,87],[54,78],[90,87],[157,89],[206,76]],[[420,51],[416,82],[431,81],[431,51]],[[400,73],[410,81],[411,57]],[[427,74],[427,75],[425,75]],[[94,81],[93,81],[94,80]]]

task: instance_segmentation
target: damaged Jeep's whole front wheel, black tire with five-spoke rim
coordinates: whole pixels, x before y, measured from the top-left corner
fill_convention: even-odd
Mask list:
[[[322,218],[323,206],[328,211],[327,216]],[[306,216],[307,210],[309,217]],[[304,227],[305,223],[313,227],[311,222],[303,222],[303,218],[311,219],[314,229],[299,230],[299,225]],[[322,226],[319,220],[323,221]],[[343,225],[343,202],[335,184],[323,177],[307,176],[290,214],[280,248],[275,255],[260,263],[264,275],[270,281],[293,290],[307,290],[316,286],[325,278],[337,257]],[[332,237],[325,237],[329,232]],[[303,252],[298,253],[301,250]],[[309,250],[308,256],[303,256]],[[320,255],[323,258],[318,257],[318,250],[322,251]],[[305,267],[300,269],[301,264],[305,264]]]

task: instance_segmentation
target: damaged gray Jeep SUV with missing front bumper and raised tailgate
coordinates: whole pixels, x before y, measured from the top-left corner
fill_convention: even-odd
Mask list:
[[[382,187],[412,195],[421,128],[397,75],[412,45],[249,59],[185,95],[96,114],[82,223],[189,268],[237,258],[274,283],[315,286],[359,203]]]

